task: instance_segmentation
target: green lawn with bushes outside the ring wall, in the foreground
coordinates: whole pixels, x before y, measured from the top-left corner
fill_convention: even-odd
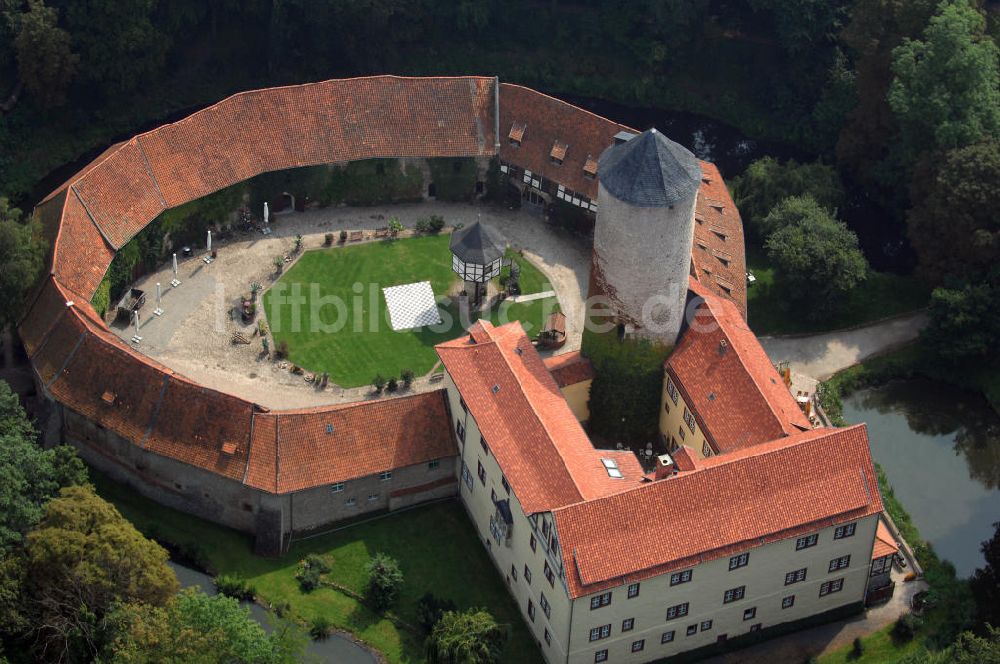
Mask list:
[[[436,503],[384,518],[360,522],[345,530],[293,545],[280,559],[252,552],[248,536],[216,526],[139,496],[91,470],[98,493],[111,501],[136,528],[169,543],[219,574],[239,574],[272,604],[289,602],[292,615],[308,623],[318,615],[353,633],[381,651],[389,662],[422,662],[423,637],[396,627],[352,597],[329,588],[304,594],[295,580],[296,565],[309,553],[323,555],[331,581],[363,592],[364,566],[370,556],[386,552],[397,560],[405,576],[394,611],[417,624],[417,600],[426,592],[453,600],[459,608],[484,606],[501,623],[510,625],[511,638],[503,661],[509,664],[541,661],[535,641],[503,585],[461,505]]]

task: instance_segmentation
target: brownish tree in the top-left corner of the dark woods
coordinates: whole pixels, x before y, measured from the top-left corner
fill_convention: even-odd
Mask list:
[[[43,106],[59,106],[80,61],[69,33],[58,25],[59,10],[28,0],[27,11],[11,13],[10,20],[20,81]]]

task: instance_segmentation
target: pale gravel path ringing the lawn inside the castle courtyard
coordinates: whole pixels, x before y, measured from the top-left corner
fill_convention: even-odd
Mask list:
[[[485,205],[427,202],[370,208],[326,208],[272,217],[274,233],[238,236],[228,242],[215,240],[218,258],[206,265],[203,249],[192,258],[178,257],[181,285],[170,287],[173,278],[168,262],[135,285],[147,293],[140,322],[142,342],[138,349],[174,371],[207,387],[235,394],[267,408],[301,408],[372,398],[366,387],[319,390],[302,376],[263,355],[254,336],[255,325],[244,326],[229,312],[253,281],[268,288],[275,278],[272,260],[292,251],[301,234],[305,249],[319,248],[326,233],[341,230],[373,230],[384,227],[389,217],[398,217],[407,228],[418,219],[441,215],[448,226],[470,224],[477,219],[496,228],[517,250],[550,280],[566,314],[567,343],[558,352],[577,350],[583,332],[583,300],[590,270],[590,244],[546,224],[533,209],[505,210]],[[288,266],[286,266],[287,269]],[[163,289],[163,316],[155,317],[155,284]],[[129,341],[131,326],[112,325]],[[231,342],[234,332],[250,338],[248,345]],[[307,367],[308,369],[308,367]],[[418,379],[413,391],[437,389],[429,377]]]

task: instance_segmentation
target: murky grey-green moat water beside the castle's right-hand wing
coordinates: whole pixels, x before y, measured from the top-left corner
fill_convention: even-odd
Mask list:
[[[867,422],[872,455],[921,536],[959,576],[981,567],[1000,520],[1000,416],[983,397],[929,380],[892,381],[844,399]]]

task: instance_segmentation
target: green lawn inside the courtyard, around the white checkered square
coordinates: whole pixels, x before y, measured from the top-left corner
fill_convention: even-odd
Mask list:
[[[434,345],[464,331],[457,308],[442,307],[441,326],[394,332],[382,288],[430,281],[435,296],[446,295],[457,280],[451,271],[449,239],[448,235],[430,235],[306,252],[264,294],[264,311],[275,342],[288,344],[294,364],[329,372],[331,380],[344,387],[367,385],[377,373],[387,377],[398,376],[403,369],[412,369],[418,376],[427,373],[437,362]],[[521,265],[525,294],[549,290],[538,268],[512,252],[509,255]],[[281,304],[277,293],[287,296],[296,286],[300,306]],[[319,306],[319,298],[336,299],[345,306],[342,310],[332,304]],[[555,304],[555,298],[508,304],[506,310],[491,311],[489,319],[497,322],[506,311],[506,320],[522,321],[533,334]]]

